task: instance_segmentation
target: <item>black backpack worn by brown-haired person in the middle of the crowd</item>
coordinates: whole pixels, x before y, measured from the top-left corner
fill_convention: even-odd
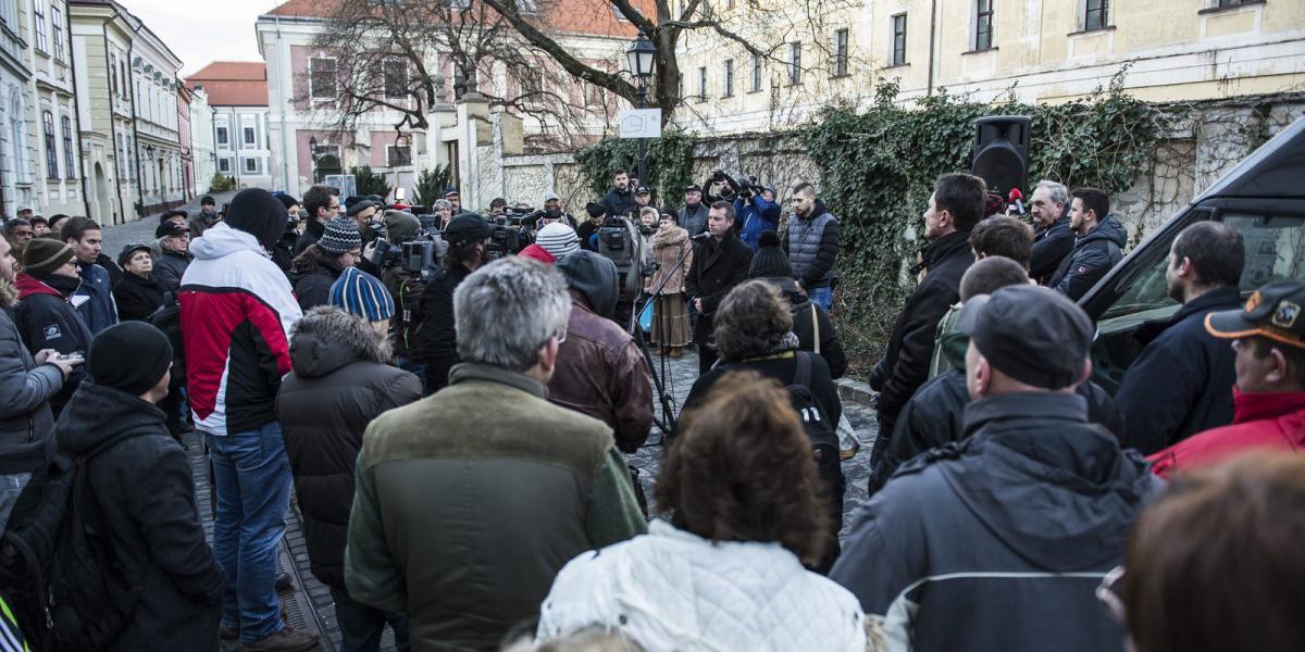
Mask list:
[[[803,432],[810,439],[812,452],[816,456],[816,469],[829,492],[830,528],[834,536],[825,559],[814,569],[820,572],[827,572],[839,552],[838,532],[843,529],[843,489],[847,485],[843,479],[843,464],[838,456],[838,424],[830,421],[829,415],[821,409],[816,394],[810,390],[810,356],[814,353],[795,351],[793,355],[797,370],[793,373],[793,381],[784,389],[788,390],[788,400],[803,420]]]

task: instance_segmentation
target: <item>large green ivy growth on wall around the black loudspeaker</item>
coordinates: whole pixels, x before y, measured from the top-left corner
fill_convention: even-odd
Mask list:
[[[1112,194],[1154,166],[1173,119],[1172,111],[1113,89],[1056,106],[985,104],[940,94],[910,110],[894,104],[897,91],[891,82],[880,85],[869,108],[829,107],[799,132],[821,168],[821,198],[842,227],[843,283],[834,316],[861,369],[881,353],[914,287],[903,261],[914,259],[924,243],[906,233],[923,231],[934,180],[970,171],[975,119],[1030,117],[1030,185],[1051,179]]]

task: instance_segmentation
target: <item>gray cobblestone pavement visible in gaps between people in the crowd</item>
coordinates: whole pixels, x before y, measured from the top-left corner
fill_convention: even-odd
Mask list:
[[[652,360],[654,373],[660,378],[662,360],[656,357]],[[676,412],[679,412],[680,406],[684,404],[684,399],[688,398],[689,390],[693,387],[693,381],[697,379],[697,356],[685,353],[685,356],[680,360],[666,360],[666,389],[667,394],[675,400]],[[660,406],[656,412],[658,421],[660,422]],[[857,454],[851,459],[843,462],[843,473],[847,476],[847,492],[843,499],[843,536],[846,537],[852,511],[867,499],[865,481],[868,476],[868,458],[877,426],[874,411],[868,407],[844,400],[843,413],[851,420],[857,438],[861,442],[860,451],[857,451]],[[649,445],[639,449],[638,452],[630,455],[629,458],[630,464],[639,469],[639,480],[650,502],[652,497],[652,484],[662,463],[663,451],[660,441],[662,433],[659,429],[654,428],[652,434],[649,437]],[[204,519],[205,533],[209,536],[211,542],[213,518],[210,507],[211,498],[207,458],[205,455],[201,438],[194,433],[185,437],[185,446],[191,454],[191,467],[194,475],[194,489],[198,498],[200,515]],[[296,629],[321,632],[322,638],[318,644],[318,649],[341,649],[339,625],[335,621],[335,609],[330,599],[330,592],[321,582],[317,582],[317,578],[313,576],[308,567],[308,554],[304,542],[299,506],[294,499],[291,499],[291,510],[286,522],[286,536],[281,544],[279,570],[290,572],[294,580],[294,587],[290,591],[281,593],[281,604],[286,622]],[[230,652],[235,649],[235,645],[224,645],[223,649]],[[395,649],[394,634],[389,630],[389,627],[385,630],[381,649],[386,652]]]

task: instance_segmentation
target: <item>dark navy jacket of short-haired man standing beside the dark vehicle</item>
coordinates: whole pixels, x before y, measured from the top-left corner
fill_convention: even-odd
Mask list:
[[[1211,289],[1173,317],[1138,327],[1133,336],[1146,348],[1114,393],[1129,426],[1128,446],[1151,455],[1232,422],[1237,355],[1227,339],[1206,333],[1206,316],[1238,308],[1240,289]]]

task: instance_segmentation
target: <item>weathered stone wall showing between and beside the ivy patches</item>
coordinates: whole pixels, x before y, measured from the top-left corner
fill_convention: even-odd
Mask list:
[[[1130,245],[1155,231],[1259,145],[1305,116],[1305,93],[1186,104],[1181,110],[1185,117],[1160,145],[1155,170],[1112,198],[1112,211],[1124,220]],[[586,202],[595,200],[570,154],[482,156],[482,162],[491,158],[495,163],[501,160],[501,177],[497,184],[482,186],[482,206],[488,206],[493,197],[538,206],[543,193],[555,192],[570,213],[579,214]],[[694,142],[693,158],[697,183],[706,180],[713,170],[723,168],[756,176],[775,186],[783,200],[801,181],[821,185],[818,166],[792,134],[703,138]],[[1030,179],[1030,185],[1034,183]]]

